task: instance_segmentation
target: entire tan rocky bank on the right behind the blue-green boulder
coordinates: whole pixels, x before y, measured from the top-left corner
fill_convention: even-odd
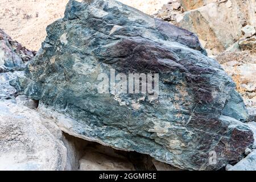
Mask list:
[[[255,109],[256,54],[253,35],[256,2],[250,0],[180,0],[180,2],[181,10],[185,13],[167,8],[171,6],[167,4],[159,10],[156,17],[196,32],[208,55],[217,55],[219,63],[236,82],[237,90],[246,106]],[[253,116],[248,121],[252,119]]]

